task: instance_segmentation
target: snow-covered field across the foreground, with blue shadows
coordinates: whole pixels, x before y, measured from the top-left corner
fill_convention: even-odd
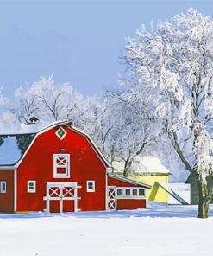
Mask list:
[[[211,217],[197,207],[148,204],[114,213],[0,214],[1,256],[212,255]]]

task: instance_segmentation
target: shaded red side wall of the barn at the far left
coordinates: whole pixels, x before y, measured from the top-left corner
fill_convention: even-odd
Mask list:
[[[7,193],[0,193],[0,212],[14,212],[14,170],[0,170],[0,181],[7,182]]]

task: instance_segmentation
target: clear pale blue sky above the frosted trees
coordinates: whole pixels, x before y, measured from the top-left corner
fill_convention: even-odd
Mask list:
[[[116,86],[125,38],[190,7],[213,16],[211,1],[0,1],[3,93],[52,73],[84,95]]]

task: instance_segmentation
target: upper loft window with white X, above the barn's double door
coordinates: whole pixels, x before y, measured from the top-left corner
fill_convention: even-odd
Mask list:
[[[70,155],[54,154],[53,156],[53,176],[54,178],[70,177]]]

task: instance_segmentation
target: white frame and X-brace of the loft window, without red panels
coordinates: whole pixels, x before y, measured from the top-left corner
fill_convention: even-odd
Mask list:
[[[66,157],[67,164],[57,164],[58,157]],[[57,168],[66,168],[66,173],[58,173]],[[70,178],[70,154],[54,154],[53,155],[53,177],[54,178]]]

